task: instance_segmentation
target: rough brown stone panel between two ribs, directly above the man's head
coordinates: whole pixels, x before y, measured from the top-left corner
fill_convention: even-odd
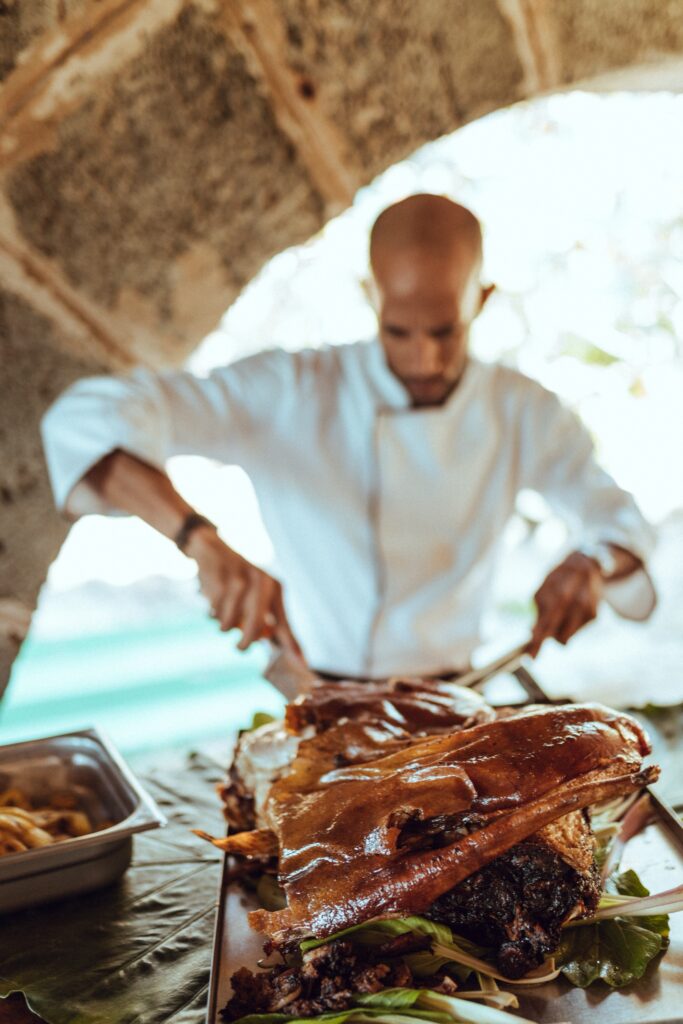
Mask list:
[[[304,94],[340,127],[359,180],[521,94],[522,68],[495,0],[281,6],[285,56]]]

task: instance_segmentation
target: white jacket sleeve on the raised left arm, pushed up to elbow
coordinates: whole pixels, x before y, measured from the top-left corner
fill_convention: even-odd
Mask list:
[[[42,436],[57,508],[76,484],[117,449],[163,468],[174,455],[236,465],[291,401],[287,353],[265,352],[214,371],[93,377],[72,385],[47,411]]]

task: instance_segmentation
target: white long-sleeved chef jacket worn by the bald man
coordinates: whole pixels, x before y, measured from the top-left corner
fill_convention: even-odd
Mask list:
[[[206,379],[82,380],[43,434],[62,508],[115,449],[160,468],[175,455],[243,467],[308,664],[342,675],[467,665],[521,488],[540,492],[583,542],[643,559],[652,544],[554,394],[471,358],[443,406],[414,409],[378,340],[266,351]]]

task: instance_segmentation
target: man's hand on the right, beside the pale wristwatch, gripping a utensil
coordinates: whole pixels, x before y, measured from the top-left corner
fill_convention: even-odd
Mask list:
[[[536,657],[549,637],[565,644],[598,613],[603,580],[593,558],[574,551],[546,578],[533,595],[538,617],[528,653]]]

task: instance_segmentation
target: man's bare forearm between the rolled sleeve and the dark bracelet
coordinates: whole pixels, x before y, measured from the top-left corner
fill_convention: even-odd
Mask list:
[[[128,452],[116,451],[86,473],[70,499],[78,511],[78,488],[89,488],[110,508],[139,516],[165,537],[174,538],[194,511],[166,473]]]

